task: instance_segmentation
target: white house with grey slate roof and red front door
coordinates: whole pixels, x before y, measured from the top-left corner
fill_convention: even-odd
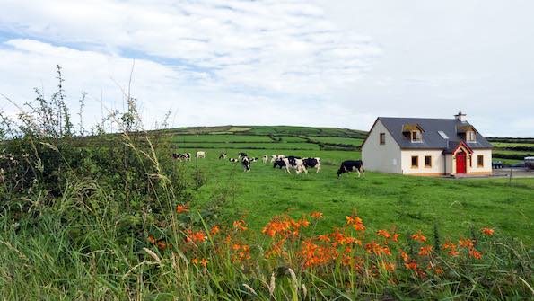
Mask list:
[[[365,169],[430,176],[491,174],[493,146],[461,111],[454,117],[377,118],[363,141]]]

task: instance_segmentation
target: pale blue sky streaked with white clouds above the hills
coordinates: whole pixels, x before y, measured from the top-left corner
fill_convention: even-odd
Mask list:
[[[86,122],[122,109],[146,127],[369,129],[377,116],[450,118],[534,137],[534,2],[0,0],[0,93],[22,103],[66,76]],[[103,109],[102,109],[103,108]],[[0,100],[0,110],[13,106]],[[75,113],[75,112],[74,112]]]

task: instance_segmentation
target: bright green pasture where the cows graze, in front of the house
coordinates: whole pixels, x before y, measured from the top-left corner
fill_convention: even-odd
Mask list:
[[[213,150],[218,154],[217,150]],[[423,229],[432,233],[437,224],[442,234],[468,235],[471,226],[494,227],[500,235],[516,236],[532,243],[534,216],[534,179],[507,181],[497,179],[451,180],[366,173],[360,179],[344,174],[337,179],[338,165],[360,153],[344,151],[247,150],[249,156],[270,154],[320,156],[322,172],[286,174],[271,164],[255,163],[249,173],[240,164],[217,160],[208,155],[197,162],[206,172],[206,184],[199,190],[197,204],[206,205],[232,187],[225,199],[223,217],[245,216],[253,228],[264,226],[270,217],[285,212],[293,217],[321,211],[326,230],[342,225],[345,217],[357,210],[371,230],[400,231]],[[183,163],[194,166],[191,163]]]

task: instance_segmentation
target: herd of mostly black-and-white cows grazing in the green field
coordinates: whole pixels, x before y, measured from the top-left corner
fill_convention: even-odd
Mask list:
[[[198,151],[195,154],[195,157],[197,159],[206,158],[206,152],[204,151]],[[184,154],[172,154],[172,158],[177,159],[179,161],[189,161],[191,160],[191,154],[190,153],[184,153]],[[238,157],[236,158],[228,158],[228,155],[226,153],[221,153],[219,155],[219,160],[221,159],[228,159],[231,163],[240,163],[243,167],[243,171],[249,172],[250,171],[250,164],[253,162],[258,162],[259,159],[256,157],[249,158],[249,155],[246,153],[238,153]],[[279,169],[284,168],[287,173],[291,173],[290,169],[293,169],[296,171],[296,173],[308,173],[308,169],[315,168],[316,173],[320,172],[320,158],[302,158],[300,156],[296,155],[271,155],[270,160],[267,155],[264,155],[261,158],[261,161],[263,164],[267,164],[269,161],[273,164],[273,168],[278,167]],[[339,169],[337,170],[337,177],[339,177],[342,173],[350,173],[350,172],[356,172],[358,173],[358,177],[361,176],[362,173],[364,173],[363,170],[363,162],[362,160],[347,160],[341,163],[341,166],[339,166]]]

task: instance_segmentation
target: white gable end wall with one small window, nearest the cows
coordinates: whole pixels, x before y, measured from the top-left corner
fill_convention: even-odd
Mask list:
[[[380,133],[386,134],[384,145],[380,144]],[[363,168],[368,171],[401,173],[400,147],[380,120],[376,121],[362,146],[362,161]]]

